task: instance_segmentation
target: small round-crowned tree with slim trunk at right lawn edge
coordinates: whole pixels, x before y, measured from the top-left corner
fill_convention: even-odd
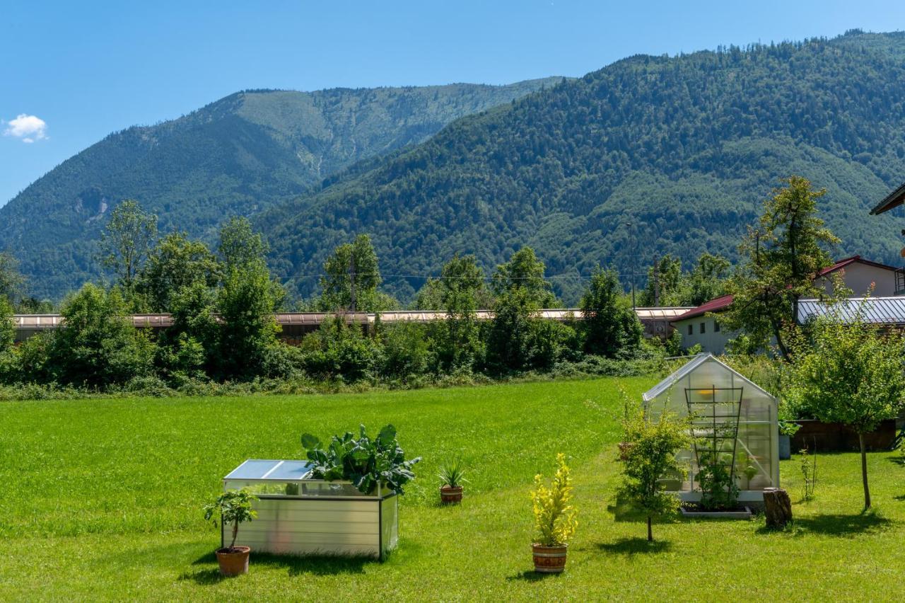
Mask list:
[[[905,340],[899,333],[884,334],[865,323],[859,311],[853,321],[833,315],[819,319],[811,329],[810,343],[800,347],[804,350],[796,354],[786,398],[799,412],[843,423],[858,434],[864,508],[869,509],[864,434],[905,407]]]

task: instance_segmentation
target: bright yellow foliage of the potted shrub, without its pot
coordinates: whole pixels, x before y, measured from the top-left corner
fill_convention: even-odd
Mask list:
[[[534,529],[538,544],[565,546],[578,527],[576,509],[572,500],[572,476],[566,464],[566,455],[557,455],[557,473],[548,486],[543,475],[534,476]]]

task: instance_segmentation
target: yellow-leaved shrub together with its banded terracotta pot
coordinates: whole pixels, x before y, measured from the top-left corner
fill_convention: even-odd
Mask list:
[[[534,570],[541,573],[559,573],[566,569],[568,541],[578,526],[577,512],[572,500],[572,477],[566,465],[566,455],[557,455],[557,473],[547,486],[543,476],[534,476],[535,541],[531,545],[534,554]]]

